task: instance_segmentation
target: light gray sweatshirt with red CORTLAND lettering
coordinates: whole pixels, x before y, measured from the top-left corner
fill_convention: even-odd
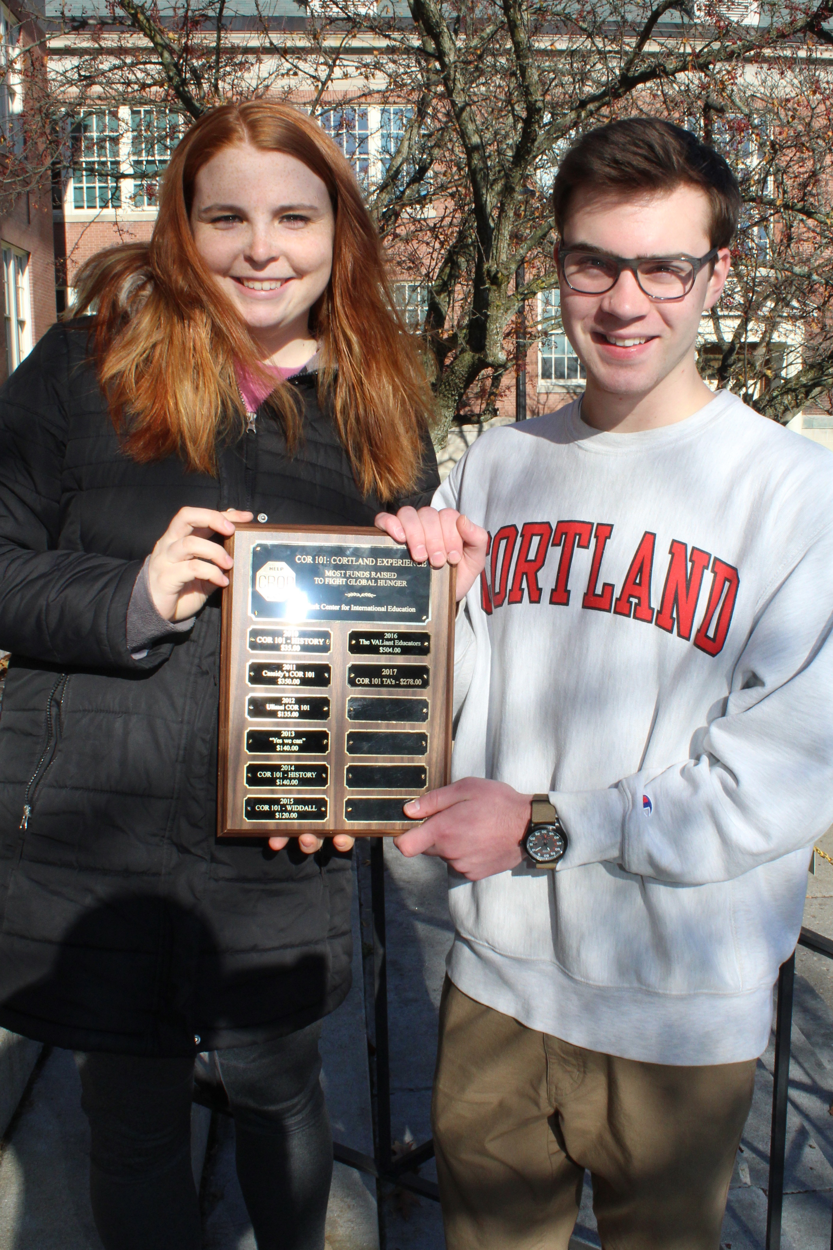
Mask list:
[[[569,838],[556,872],[450,874],[452,981],[608,1054],[761,1054],[833,822],[833,456],[726,392],[638,434],[573,404],[435,505],[491,535],[453,776],[550,791]]]

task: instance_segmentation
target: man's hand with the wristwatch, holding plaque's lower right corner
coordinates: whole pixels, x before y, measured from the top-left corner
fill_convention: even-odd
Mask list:
[[[438,855],[470,881],[480,881],[521,862],[532,795],[503,781],[466,778],[413,799],[405,814],[427,819],[393,839],[403,855]]]

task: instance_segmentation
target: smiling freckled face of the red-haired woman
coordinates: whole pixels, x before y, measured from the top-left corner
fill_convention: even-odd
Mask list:
[[[226,148],[196,175],[191,230],[256,336],[307,335],[310,309],[330,281],[335,235],[317,174],[283,152]]]

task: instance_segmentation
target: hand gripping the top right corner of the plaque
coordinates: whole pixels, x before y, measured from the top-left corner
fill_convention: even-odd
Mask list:
[[[457,601],[463,599],[480,578],[486,564],[488,534],[453,508],[400,508],[380,512],[373,521],[397,542],[407,542],[411,559],[427,560],[432,569],[442,569],[446,560],[457,566]]]

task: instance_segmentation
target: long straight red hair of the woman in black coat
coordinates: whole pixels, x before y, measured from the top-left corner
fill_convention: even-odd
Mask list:
[[[286,104],[252,100],[204,114],[171,156],[150,244],[110,248],[79,272],[72,315],[96,312],[92,351],[114,425],[135,460],[179,454],[205,472],[216,471],[217,442],[242,430],[235,364],[259,378],[264,370],[189,222],[199,170],[237,144],[295,156],[330,192],[332,275],[310,318],[322,360],[318,394],[360,489],[392,500],[417,480],[431,390],[393,308],[378,234],[348,161]],[[277,385],[269,402],[293,452],[302,440],[293,388]]]

